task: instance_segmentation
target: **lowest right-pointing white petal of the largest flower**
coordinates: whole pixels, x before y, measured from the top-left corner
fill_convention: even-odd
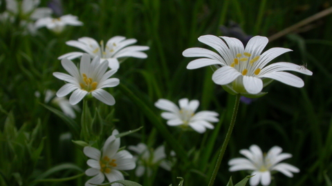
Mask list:
[[[302,79],[288,72],[270,72],[268,74],[261,75],[260,77],[274,79],[282,83],[285,83],[286,85],[291,85],[293,87],[304,86],[304,82]]]

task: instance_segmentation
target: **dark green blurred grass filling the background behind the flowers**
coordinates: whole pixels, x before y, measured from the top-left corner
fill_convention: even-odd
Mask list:
[[[41,6],[46,4],[42,1]],[[203,34],[222,35],[219,27],[229,21],[239,23],[246,34],[269,37],[329,6],[332,4],[328,1],[309,0],[75,0],[63,2],[64,14],[76,15],[84,26],[68,26],[60,35],[46,28],[39,29],[35,36],[22,35],[17,24],[1,23],[0,185],[84,185],[88,176],[65,182],[34,182],[37,178],[68,178],[88,168],[82,147],[71,142],[71,139],[84,140],[73,131],[73,125],[81,125],[80,113],[75,120],[64,121],[40,104],[44,103],[44,97],[37,98],[35,92],[57,91],[64,84],[52,75],[65,72],[57,57],[80,51],[67,46],[66,41],[91,37],[106,42],[116,35],[135,38],[138,45],[149,45],[150,50],[146,52],[147,59],[124,61],[114,75],[120,79],[120,85],[109,92],[115,96],[116,105],[89,102],[92,116],[98,107],[106,123],[102,135],[91,137],[90,141],[101,147],[114,127],[126,132],[143,126],[139,132],[123,137],[122,146],[142,142],[156,148],[164,144],[168,152],[176,151],[176,165],[172,172],[158,169],[151,178],[137,178],[132,170],[127,179],[147,186],[177,185],[176,177],[181,176],[185,178],[185,186],[208,185],[230,123],[234,96],[212,82],[210,68],[187,70],[186,65],[193,58],[183,57],[183,50],[211,49],[197,38]],[[331,185],[331,21],[332,16],[326,16],[306,25],[308,29],[300,28],[268,44],[267,48],[291,48],[293,52],[275,61],[306,64],[313,76],[297,74],[305,81],[301,89],[275,81],[264,88],[266,96],[250,105],[240,103],[214,185],[226,185],[230,176],[237,183],[248,175],[228,172],[227,162],[240,157],[239,150],[252,144],[259,145],[264,152],[274,145],[282,147],[283,152],[293,154],[285,162],[300,169],[293,178],[275,174],[271,185]],[[154,103],[160,98],[177,102],[185,97],[198,99],[199,110],[219,112],[222,122],[215,124],[219,130],[181,134],[166,125]],[[83,101],[79,103],[81,108],[82,104]],[[58,109],[50,104],[48,107]],[[71,134],[71,138],[64,137],[66,134]],[[8,165],[8,161],[17,163]],[[62,164],[65,166],[57,167]],[[46,175],[48,170],[52,174]]]

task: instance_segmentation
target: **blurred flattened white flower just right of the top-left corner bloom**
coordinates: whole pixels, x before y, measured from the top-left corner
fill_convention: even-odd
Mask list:
[[[76,16],[71,14],[64,15],[59,18],[44,17],[38,19],[35,23],[36,28],[42,28],[46,26],[49,30],[52,30],[55,33],[61,33],[66,25],[83,25],[81,21],[77,20]]]

